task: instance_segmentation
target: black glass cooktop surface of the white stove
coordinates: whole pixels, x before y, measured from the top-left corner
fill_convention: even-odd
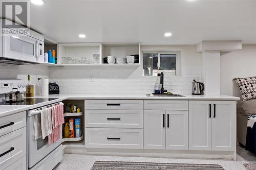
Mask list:
[[[0,102],[0,105],[34,105],[42,102],[52,101],[55,99],[58,99],[58,98],[27,98],[27,99],[24,99],[23,102],[13,102],[13,103]]]

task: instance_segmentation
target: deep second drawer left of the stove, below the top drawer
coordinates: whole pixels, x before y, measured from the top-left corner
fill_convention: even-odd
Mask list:
[[[26,127],[0,137],[0,154],[3,154],[0,157],[1,168],[26,155]]]

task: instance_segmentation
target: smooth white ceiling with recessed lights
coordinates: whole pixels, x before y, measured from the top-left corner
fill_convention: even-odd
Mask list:
[[[31,4],[31,28],[57,42],[256,44],[255,0],[45,0]],[[172,32],[172,37],[164,37]],[[81,39],[78,34],[86,34]]]

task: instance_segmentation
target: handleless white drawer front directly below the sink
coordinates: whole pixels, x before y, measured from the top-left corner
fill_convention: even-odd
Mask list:
[[[144,100],[144,110],[188,110],[188,101]]]

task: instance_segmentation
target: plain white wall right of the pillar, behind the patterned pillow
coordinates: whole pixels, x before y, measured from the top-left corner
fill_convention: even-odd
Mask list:
[[[236,95],[232,79],[256,76],[256,45],[242,45],[242,50],[221,55],[221,94]]]

